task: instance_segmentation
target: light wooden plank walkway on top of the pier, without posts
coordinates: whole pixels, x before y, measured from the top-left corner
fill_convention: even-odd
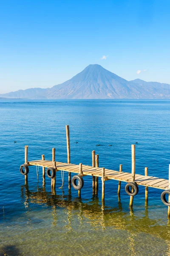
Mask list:
[[[48,160],[35,160],[29,161],[30,166],[42,166],[42,167],[53,167],[52,161]],[[79,165],[71,163],[62,163],[56,162],[57,171],[66,171],[73,172],[75,174],[79,173]],[[83,175],[93,175],[97,177],[102,177],[102,168],[95,168],[92,166],[82,165]],[[129,172],[118,172],[110,169],[105,169],[105,178],[110,180],[120,180],[125,182],[131,181],[132,174]],[[166,179],[153,177],[153,176],[144,176],[144,175],[135,175],[135,182],[138,185],[154,187],[157,189],[168,189],[169,181]]]

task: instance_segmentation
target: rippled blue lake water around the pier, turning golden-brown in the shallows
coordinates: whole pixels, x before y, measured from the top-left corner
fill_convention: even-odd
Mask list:
[[[37,180],[31,166],[28,185],[20,175],[24,146],[28,160],[67,161],[65,125],[70,125],[71,163],[91,165],[91,151],[99,166],[131,171],[131,144],[136,145],[136,173],[168,178],[170,163],[170,101],[0,101],[0,256],[7,255],[170,255],[170,223],[161,190],[139,186],[133,212],[122,183],[120,202],[117,181],[105,183],[105,206],[92,197],[92,179],[78,198],[63,191],[57,173],[56,194],[51,180]],[[14,144],[14,140],[17,143]],[[78,144],[75,142],[78,141]],[[102,144],[96,147],[96,144]],[[111,144],[112,147],[108,147]]]

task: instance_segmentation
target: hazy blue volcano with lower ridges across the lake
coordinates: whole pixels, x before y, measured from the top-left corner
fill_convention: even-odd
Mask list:
[[[127,81],[94,64],[62,84],[52,88],[31,88],[0,94],[22,99],[169,99],[170,84]]]

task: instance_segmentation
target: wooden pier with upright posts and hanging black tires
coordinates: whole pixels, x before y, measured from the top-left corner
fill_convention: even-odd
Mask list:
[[[81,195],[81,189],[84,185],[83,178],[86,175],[92,176],[92,191],[93,195],[98,193],[98,179],[102,180],[102,201],[105,200],[105,181],[106,180],[118,180],[118,196],[120,194],[121,182],[126,182],[125,191],[130,195],[130,208],[133,206],[133,197],[138,193],[138,186],[145,186],[145,204],[148,203],[148,187],[163,189],[164,192],[161,194],[162,202],[168,206],[168,218],[170,218],[170,166],[169,166],[169,180],[148,176],[148,168],[145,167],[144,174],[139,175],[135,173],[135,145],[132,145],[132,172],[123,172],[122,164],[120,164],[119,171],[105,169],[99,167],[99,155],[92,151],[92,166],[83,165],[80,163],[76,165],[71,163],[70,157],[70,132],[69,126],[66,125],[66,140],[67,140],[67,154],[68,163],[62,163],[55,161],[55,148],[52,149],[52,160],[45,160],[44,154],[40,160],[29,160],[28,161],[28,146],[25,146],[25,164],[20,166],[21,174],[25,175],[25,181],[28,182],[28,166],[40,166],[42,167],[42,177],[45,180],[45,168],[47,168],[47,176],[51,178],[51,188],[55,190],[56,185],[56,172],[68,172],[68,188],[72,186],[78,190],[78,195]],[[25,169],[25,172],[24,172]],[[74,177],[71,179],[71,173]],[[76,182],[77,180],[77,182]],[[63,184],[62,184],[63,185]],[[169,199],[166,199],[168,194]]]

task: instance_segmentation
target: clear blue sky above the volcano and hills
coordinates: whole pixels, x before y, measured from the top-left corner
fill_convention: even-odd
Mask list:
[[[170,1],[0,1],[0,93],[52,87],[89,64],[170,84]]]

